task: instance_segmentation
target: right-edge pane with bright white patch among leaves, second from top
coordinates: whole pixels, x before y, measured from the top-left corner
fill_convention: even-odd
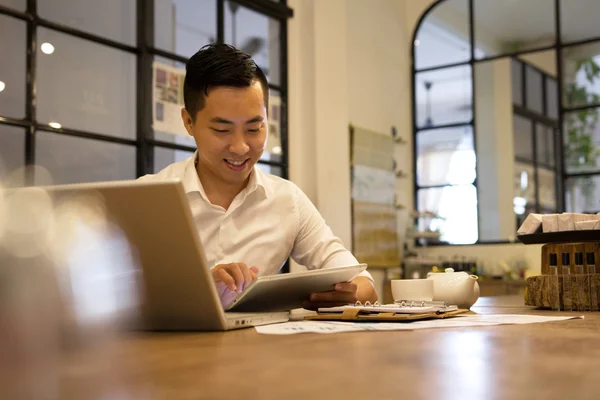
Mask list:
[[[563,49],[563,85],[566,107],[600,104],[599,42]]]

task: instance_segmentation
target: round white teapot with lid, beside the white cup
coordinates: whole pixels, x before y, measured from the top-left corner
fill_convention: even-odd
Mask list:
[[[470,308],[479,298],[476,275],[454,272],[446,268],[445,273],[430,272],[427,279],[433,280],[433,300],[447,301],[459,308]]]

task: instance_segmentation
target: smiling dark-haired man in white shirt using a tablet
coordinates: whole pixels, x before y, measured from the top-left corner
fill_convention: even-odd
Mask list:
[[[141,180],[180,178],[208,265],[226,304],[259,275],[277,273],[288,257],[309,269],[357,264],[308,197],[255,164],[267,141],[269,90],[249,55],[224,44],[200,49],[186,65],[181,118],[198,150]],[[306,308],[374,302],[363,272]]]

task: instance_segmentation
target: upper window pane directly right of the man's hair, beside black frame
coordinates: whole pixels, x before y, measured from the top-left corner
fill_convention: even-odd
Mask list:
[[[269,83],[281,83],[281,23],[233,1],[225,2],[225,43],[250,54]]]

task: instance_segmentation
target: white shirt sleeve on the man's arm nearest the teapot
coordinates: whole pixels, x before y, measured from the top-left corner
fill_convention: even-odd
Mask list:
[[[292,249],[292,259],[308,269],[342,267],[359,262],[342,241],[333,234],[308,196],[294,185],[298,234]],[[373,280],[363,271],[359,276]]]

